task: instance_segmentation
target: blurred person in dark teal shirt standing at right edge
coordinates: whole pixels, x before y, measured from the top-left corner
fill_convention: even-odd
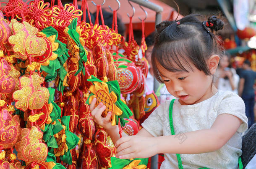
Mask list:
[[[240,74],[239,96],[246,105],[246,116],[248,117],[248,127],[254,124],[253,107],[255,103],[255,91],[253,85],[256,79],[256,72],[251,70],[251,62],[243,62],[243,71]]]

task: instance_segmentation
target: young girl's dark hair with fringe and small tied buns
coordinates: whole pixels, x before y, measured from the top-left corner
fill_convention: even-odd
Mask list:
[[[224,23],[216,16],[201,22],[199,16],[201,15],[191,14],[178,21],[164,21],[156,26],[152,67],[159,82],[163,83],[157,63],[172,72],[188,72],[184,64],[193,71],[190,64],[193,63],[197,69],[211,75],[206,61],[213,54],[222,56],[221,41],[214,35],[214,31],[222,29]]]

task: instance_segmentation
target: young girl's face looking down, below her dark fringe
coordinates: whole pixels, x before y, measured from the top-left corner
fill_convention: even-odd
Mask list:
[[[157,69],[167,91],[179,98],[182,105],[199,103],[211,97],[213,95],[212,76],[206,76],[192,63],[193,71],[188,66],[183,66],[189,72],[170,72],[157,63]]]

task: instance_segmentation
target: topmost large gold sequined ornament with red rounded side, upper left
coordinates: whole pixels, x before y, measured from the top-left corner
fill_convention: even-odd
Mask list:
[[[50,57],[57,57],[55,53],[52,53],[51,42],[45,37],[37,36],[37,28],[32,27],[27,22],[15,22],[12,28],[13,35],[8,38],[8,41],[13,45],[15,58],[26,60],[31,57],[31,61],[44,63]]]

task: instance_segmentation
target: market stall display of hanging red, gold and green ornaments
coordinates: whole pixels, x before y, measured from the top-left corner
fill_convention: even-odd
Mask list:
[[[156,11],[155,23],[161,21],[160,6],[131,1]],[[95,24],[81,17],[91,2],[82,0],[81,9],[77,0],[54,3],[1,4],[0,168],[146,168],[148,159],[115,158],[115,146],[89,109],[96,98],[96,106],[107,107],[103,116],[112,113],[112,125],[135,135],[142,117],[158,106],[157,99],[148,105],[154,95],[144,93],[144,33],[139,46],[130,22],[125,42],[118,34],[117,10],[112,28],[99,25],[104,16],[96,1]]]

